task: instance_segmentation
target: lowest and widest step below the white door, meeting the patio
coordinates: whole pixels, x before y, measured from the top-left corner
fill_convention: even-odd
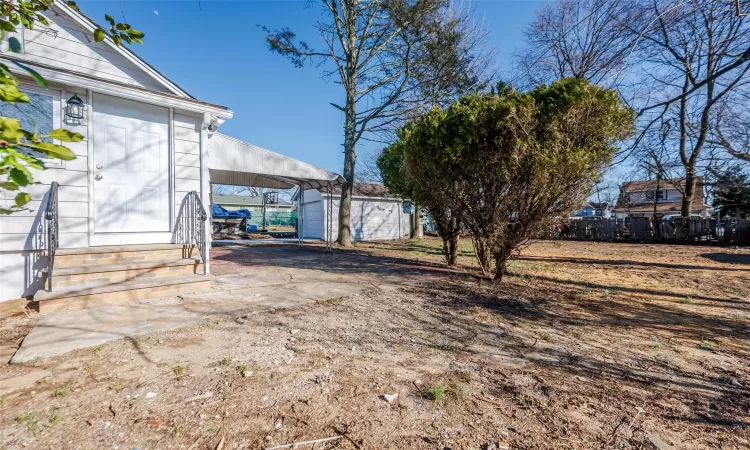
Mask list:
[[[179,275],[113,282],[100,286],[76,286],[39,291],[32,307],[39,312],[84,309],[91,306],[122,304],[149,298],[168,297],[211,289],[211,275]]]

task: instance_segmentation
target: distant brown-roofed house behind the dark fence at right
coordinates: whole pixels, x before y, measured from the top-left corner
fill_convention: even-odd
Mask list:
[[[661,180],[659,189],[656,181],[628,181],[620,187],[620,200],[613,210],[615,217],[652,217],[654,203],[656,213],[664,216],[680,216],[684,179]],[[703,179],[698,178],[692,202],[692,214],[708,217],[711,208],[705,203]]]

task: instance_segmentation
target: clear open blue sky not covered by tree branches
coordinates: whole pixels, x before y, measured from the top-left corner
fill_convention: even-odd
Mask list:
[[[522,29],[541,1],[474,1],[477,19],[490,32],[490,48],[501,70],[522,47]],[[78,1],[99,23],[120,18],[119,1]],[[128,23],[146,33],[135,50],[200,100],[228,106],[234,118],[222,133],[341,173],[343,117],[329,105],[343,91],[321,79],[315,67],[294,68],[268,51],[264,33],[288,26],[301,39],[318,42],[317,7],[303,1],[124,1]],[[380,145],[360,143],[358,154]]]

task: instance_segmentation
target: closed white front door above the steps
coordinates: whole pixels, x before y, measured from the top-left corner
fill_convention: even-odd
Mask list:
[[[171,241],[169,110],[94,94],[91,245]]]

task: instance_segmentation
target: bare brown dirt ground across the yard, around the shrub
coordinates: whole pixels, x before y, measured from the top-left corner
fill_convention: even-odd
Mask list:
[[[337,251],[440,276],[2,366],[0,448],[750,448],[750,250],[538,242],[495,286]]]

